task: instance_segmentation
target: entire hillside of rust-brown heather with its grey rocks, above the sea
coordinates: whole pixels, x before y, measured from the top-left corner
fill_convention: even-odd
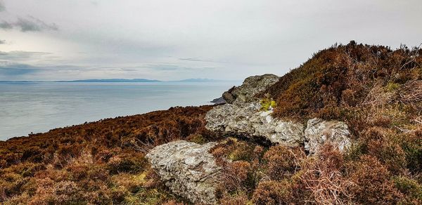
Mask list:
[[[212,190],[201,203],[422,204],[420,53],[351,41],[283,77],[246,79],[226,105],[0,142],[0,203],[192,204]],[[310,122],[335,138],[309,150]]]

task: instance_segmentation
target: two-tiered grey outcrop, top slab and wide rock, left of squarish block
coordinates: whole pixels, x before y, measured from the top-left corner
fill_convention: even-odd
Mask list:
[[[274,74],[248,77],[243,84],[223,93],[229,104],[214,107],[206,114],[207,129],[248,138],[266,138],[271,143],[298,146],[303,142],[304,126],[271,117],[271,110],[261,111],[255,95],[279,80]]]

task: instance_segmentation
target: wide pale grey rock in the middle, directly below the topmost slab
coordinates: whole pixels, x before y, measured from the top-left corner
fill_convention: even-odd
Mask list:
[[[260,111],[260,107],[259,102],[219,105],[207,112],[205,127],[211,131],[249,138],[264,137],[271,143],[290,147],[303,142],[302,124],[274,119],[271,110]]]

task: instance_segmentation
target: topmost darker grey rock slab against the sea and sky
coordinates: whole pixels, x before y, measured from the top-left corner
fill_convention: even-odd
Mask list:
[[[253,77],[248,77],[243,81],[243,84],[238,87],[233,87],[229,91],[223,93],[223,98],[228,103],[240,104],[243,102],[253,102],[257,99],[255,95],[264,91],[269,86],[272,86],[279,81],[275,74],[263,74]]]

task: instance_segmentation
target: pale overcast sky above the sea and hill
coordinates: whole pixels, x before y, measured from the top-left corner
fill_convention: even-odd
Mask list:
[[[0,81],[286,74],[355,40],[422,43],[421,0],[0,0]]]

